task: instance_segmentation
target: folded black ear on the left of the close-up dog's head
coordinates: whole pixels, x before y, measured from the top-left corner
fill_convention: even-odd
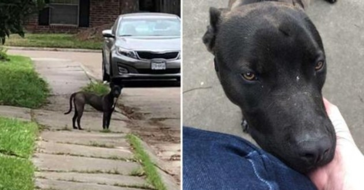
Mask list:
[[[212,54],[214,54],[215,37],[221,21],[221,14],[224,10],[226,9],[210,7],[210,25],[207,26],[207,31],[203,35],[202,41],[206,45],[207,50]]]

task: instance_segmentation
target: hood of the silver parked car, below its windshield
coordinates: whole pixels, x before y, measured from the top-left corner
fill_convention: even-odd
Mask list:
[[[117,37],[115,45],[135,51],[179,51],[181,37],[179,36],[146,36],[146,37]]]

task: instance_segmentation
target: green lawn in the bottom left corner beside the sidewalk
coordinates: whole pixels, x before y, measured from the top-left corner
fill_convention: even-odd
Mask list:
[[[0,117],[0,189],[32,190],[35,168],[30,161],[38,126]]]

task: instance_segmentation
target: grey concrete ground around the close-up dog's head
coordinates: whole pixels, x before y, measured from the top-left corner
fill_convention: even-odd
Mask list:
[[[228,0],[183,1],[183,124],[245,136],[241,113],[223,93],[213,68],[213,56],[201,37],[210,6]],[[328,74],[324,96],[341,110],[360,150],[364,152],[364,1],[313,0],[307,12],[324,42]]]

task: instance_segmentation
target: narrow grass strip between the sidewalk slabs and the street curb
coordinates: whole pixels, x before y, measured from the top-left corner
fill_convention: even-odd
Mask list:
[[[131,143],[131,146],[134,148],[135,157],[141,161],[143,165],[143,170],[147,175],[147,181],[158,190],[166,190],[166,186],[163,184],[161,176],[158,174],[157,169],[154,166],[154,163],[151,161],[149,155],[144,151],[141,140],[133,135],[128,134],[127,138]]]

